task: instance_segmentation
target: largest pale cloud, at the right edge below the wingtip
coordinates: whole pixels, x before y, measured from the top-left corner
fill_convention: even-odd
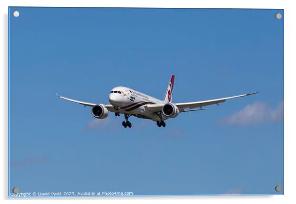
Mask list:
[[[254,102],[242,110],[223,119],[227,125],[248,126],[262,123],[281,122],[284,116],[284,102],[280,102],[275,109],[270,108],[265,102]]]

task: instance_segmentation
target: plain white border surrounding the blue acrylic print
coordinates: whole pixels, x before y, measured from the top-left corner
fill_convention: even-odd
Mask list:
[[[295,113],[295,99],[293,97],[293,87],[295,85],[295,16],[296,9],[293,1],[275,1],[275,0],[2,0],[1,3],[1,50],[0,61],[2,62],[1,69],[1,101],[0,108],[2,117],[0,118],[1,134],[1,185],[0,193],[1,200],[4,203],[14,203],[20,199],[7,198],[7,10],[8,6],[65,6],[65,7],[172,7],[172,8],[280,8],[285,9],[285,196],[214,196],[214,197],[113,197],[113,198],[75,198],[75,199],[22,199],[22,203],[51,203],[55,200],[62,200],[63,203],[291,203],[296,200],[295,189],[295,122],[293,121]],[[294,25],[292,24],[294,22]],[[293,58],[294,56],[294,58]],[[294,125],[294,126],[293,126]],[[7,201],[8,200],[8,201]],[[86,201],[84,201],[86,200]]]

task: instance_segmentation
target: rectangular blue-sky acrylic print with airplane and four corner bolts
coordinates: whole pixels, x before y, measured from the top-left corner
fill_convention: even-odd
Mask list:
[[[9,197],[284,194],[284,10],[8,16]]]

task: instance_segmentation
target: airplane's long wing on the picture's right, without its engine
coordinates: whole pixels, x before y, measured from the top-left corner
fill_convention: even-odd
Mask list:
[[[229,100],[229,99],[236,99],[239,97],[250,96],[257,93],[258,92],[253,92],[249,94],[237,95],[237,96],[226,97],[221,99],[212,99],[212,100],[200,101],[200,102],[180,102],[180,103],[175,103],[175,105],[177,105],[180,112],[187,112],[188,110],[185,110],[185,108],[189,108],[189,109],[201,108],[202,109],[203,106],[213,105],[213,104],[218,105],[219,103],[226,102],[226,100]],[[148,105],[145,105],[145,108],[148,109],[150,112],[155,113],[155,112],[161,111],[163,105],[164,104],[148,104]]]

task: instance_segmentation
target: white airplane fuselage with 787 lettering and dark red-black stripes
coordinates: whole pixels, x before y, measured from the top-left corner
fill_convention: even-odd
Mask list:
[[[111,90],[109,102],[119,108],[119,112],[134,115],[139,118],[159,121],[159,117],[146,110],[146,104],[164,104],[165,102],[143,94],[128,87],[118,86]],[[162,115],[163,120],[168,119]]]

